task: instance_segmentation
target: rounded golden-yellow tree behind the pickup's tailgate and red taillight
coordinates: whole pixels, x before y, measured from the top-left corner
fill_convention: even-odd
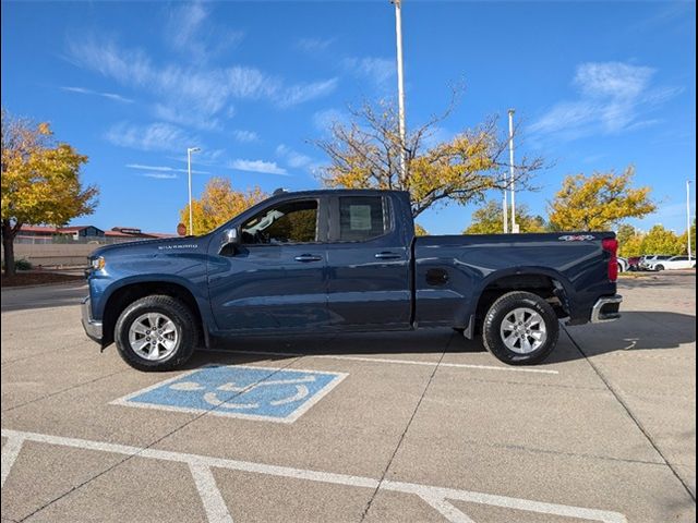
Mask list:
[[[590,177],[565,178],[563,187],[550,204],[549,222],[555,231],[601,231],[625,218],[641,218],[657,206],[650,187],[633,187],[635,168],[622,174],[594,172]]]

